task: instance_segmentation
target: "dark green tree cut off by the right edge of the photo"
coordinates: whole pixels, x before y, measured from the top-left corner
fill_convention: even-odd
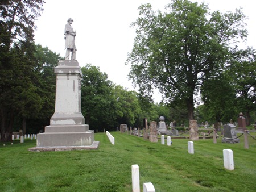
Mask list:
[[[250,125],[250,112],[256,110],[256,51],[248,47],[234,52],[228,67],[229,76],[236,89],[238,110],[246,115]]]

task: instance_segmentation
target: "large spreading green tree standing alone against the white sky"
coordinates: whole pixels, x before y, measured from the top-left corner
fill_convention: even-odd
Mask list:
[[[202,82],[217,74],[229,56],[230,46],[246,37],[241,10],[210,13],[203,3],[175,0],[169,12],[139,7],[129,78],[146,93],[156,87],[172,105],[185,103],[194,118],[194,95]]]

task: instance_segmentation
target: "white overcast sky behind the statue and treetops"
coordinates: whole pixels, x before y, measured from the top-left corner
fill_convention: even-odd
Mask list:
[[[193,0],[192,0],[193,1]],[[138,18],[138,7],[151,3],[154,10],[164,11],[171,0],[46,0],[44,12],[36,21],[35,43],[65,56],[64,27],[68,18],[74,20],[72,27],[77,32],[76,60],[80,66],[92,64],[108,74],[109,80],[128,90],[134,90],[127,79],[130,66],[125,65],[127,53],[131,52],[135,28],[130,24]],[[195,2],[195,1],[193,1]],[[198,0],[197,2],[202,2]],[[233,11],[243,7],[248,17],[246,46],[256,45],[256,11],[253,0],[205,0],[211,11]],[[157,91],[156,91],[157,92]],[[160,95],[155,93],[155,101]]]

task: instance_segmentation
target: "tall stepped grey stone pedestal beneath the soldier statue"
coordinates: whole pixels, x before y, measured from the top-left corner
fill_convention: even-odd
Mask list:
[[[97,149],[94,131],[81,114],[82,72],[76,60],[61,60],[55,68],[55,113],[45,132],[38,134],[36,147],[29,151]]]

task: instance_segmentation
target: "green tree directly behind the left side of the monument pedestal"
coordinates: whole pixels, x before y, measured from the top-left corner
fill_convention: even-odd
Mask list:
[[[55,110],[56,75],[54,68],[61,59],[64,57],[60,57],[48,47],[35,45],[34,61],[36,67],[34,73],[37,78],[34,78],[33,83],[37,88],[36,93],[40,95],[42,107],[36,113],[34,110],[27,110],[30,114],[26,119],[23,118],[23,133],[26,133],[26,120],[30,133],[38,133],[39,130],[43,130],[45,126],[49,125],[49,119]]]

